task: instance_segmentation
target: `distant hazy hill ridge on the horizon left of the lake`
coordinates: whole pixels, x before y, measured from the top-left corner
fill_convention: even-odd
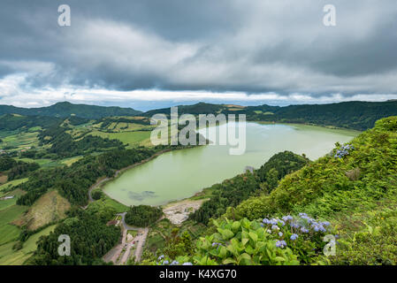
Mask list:
[[[75,115],[80,118],[100,119],[111,116],[134,116],[140,114],[132,108],[105,107],[87,104],[73,104],[68,102],[56,103],[48,107],[20,108],[11,105],[0,105],[0,115],[19,114],[24,116],[48,116],[65,118]]]

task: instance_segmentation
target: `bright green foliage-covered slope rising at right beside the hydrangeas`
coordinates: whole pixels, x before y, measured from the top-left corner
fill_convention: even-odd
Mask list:
[[[351,146],[287,175],[270,195],[252,197],[237,218],[304,211],[329,219],[340,233],[332,264],[396,264],[397,117],[380,119]],[[335,157],[342,147],[347,155]],[[230,213],[228,214],[230,215]]]

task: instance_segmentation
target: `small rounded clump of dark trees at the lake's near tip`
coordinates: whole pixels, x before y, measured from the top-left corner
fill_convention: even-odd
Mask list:
[[[133,206],[126,213],[126,224],[146,227],[157,221],[163,215],[163,210],[149,205]]]

